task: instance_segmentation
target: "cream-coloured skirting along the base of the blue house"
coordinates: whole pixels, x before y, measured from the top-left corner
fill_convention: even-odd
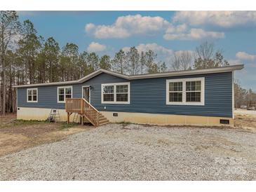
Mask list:
[[[44,121],[50,114],[50,109],[18,107],[17,118],[24,120]],[[60,121],[67,121],[65,109],[58,109]],[[110,122],[120,123],[142,123],[151,125],[226,125],[221,124],[220,119],[229,120],[229,126],[234,126],[234,119],[227,117],[213,116],[185,116],[185,115],[168,115],[168,114],[147,114],[147,113],[128,113],[114,111],[100,111]],[[117,115],[117,116],[116,116]],[[71,115],[70,121],[73,121],[74,114]],[[77,118],[77,121],[80,121]]]

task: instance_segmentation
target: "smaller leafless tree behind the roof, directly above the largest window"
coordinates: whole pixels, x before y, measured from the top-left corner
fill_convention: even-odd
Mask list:
[[[180,50],[173,54],[171,65],[175,71],[187,70],[191,67],[192,61],[193,55],[190,51]]]

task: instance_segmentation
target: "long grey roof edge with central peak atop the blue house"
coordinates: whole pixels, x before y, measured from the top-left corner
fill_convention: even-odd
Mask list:
[[[111,74],[113,76],[119,76],[119,77],[125,78],[127,80],[133,80],[133,79],[140,79],[140,78],[159,78],[159,77],[171,77],[171,76],[187,76],[187,75],[196,75],[196,74],[215,74],[215,73],[223,73],[223,72],[229,72],[229,71],[235,71],[235,70],[241,70],[241,69],[243,69],[243,64],[236,64],[236,65],[231,65],[231,66],[227,66],[227,67],[216,67],[216,68],[210,68],[210,69],[168,71],[168,72],[162,72],[162,73],[156,73],[156,74],[138,74],[138,75],[132,75],[132,76],[120,74],[120,73],[117,73],[114,71],[109,71],[106,69],[98,69],[97,71],[94,71],[93,73],[88,74],[87,76],[84,76],[83,78],[80,78],[75,81],[15,85],[13,87],[14,88],[28,88],[28,87],[38,87],[38,86],[68,85],[68,84],[75,84],[75,83],[83,83],[85,81],[88,81],[90,78],[93,78],[102,73]]]

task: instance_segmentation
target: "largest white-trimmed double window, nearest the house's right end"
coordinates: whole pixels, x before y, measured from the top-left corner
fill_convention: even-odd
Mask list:
[[[166,80],[166,104],[204,105],[204,78]]]

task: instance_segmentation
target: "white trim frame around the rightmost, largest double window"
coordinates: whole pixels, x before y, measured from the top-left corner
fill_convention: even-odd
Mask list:
[[[201,81],[201,102],[186,102],[186,81]],[[169,83],[182,82],[182,102],[169,102]],[[205,78],[166,79],[166,104],[172,105],[205,105]]]

